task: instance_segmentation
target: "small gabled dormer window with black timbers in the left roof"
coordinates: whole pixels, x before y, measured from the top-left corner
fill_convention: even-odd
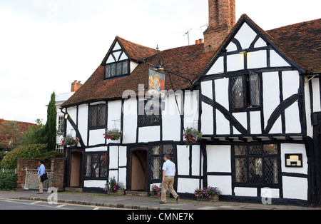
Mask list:
[[[130,73],[130,61],[125,51],[116,42],[105,65],[105,78],[126,76]]]

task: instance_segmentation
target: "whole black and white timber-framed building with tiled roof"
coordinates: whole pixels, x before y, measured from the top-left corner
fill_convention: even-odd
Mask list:
[[[63,103],[66,133],[81,140],[66,148],[66,186],[100,191],[115,176],[148,192],[170,154],[180,195],[215,186],[221,200],[320,205],[321,20],[263,31],[246,15],[235,24],[235,1],[209,2],[210,14],[228,2],[232,26],[210,16],[204,43],[161,52],[117,36]],[[160,67],[165,93],[149,114],[148,77]],[[187,127],[203,133],[190,147]],[[122,138],[106,140],[106,128]]]

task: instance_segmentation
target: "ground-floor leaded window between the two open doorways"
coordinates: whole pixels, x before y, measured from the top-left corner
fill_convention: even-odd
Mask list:
[[[107,177],[107,153],[86,153],[85,178],[99,179]]]

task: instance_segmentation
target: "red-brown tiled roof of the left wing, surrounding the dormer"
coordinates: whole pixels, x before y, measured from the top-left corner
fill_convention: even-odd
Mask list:
[[[132,54],[131,56],[135,55],[133,52],[137,50],[136,46],[138,45],[124,40],[121,40],[121,44],[124,44],[123,47],[126,49],[126,52],[128,51],[128,47],[126,46],[131,46],[131,48],[129,48],[129,52],[131,53],[128,54]],[[138,49],[141,48],[138,47]],[[173,88],[171,86],[170,78],[168,76],[166,78],[167,90],[178,90],[192,87],[191,83],[198,77],[196,75],[204,71],[205,67],[213,58],[213,53],[213,51],[204,49],[204,44],[183,46],[176,49],[161,51],[165,68],[168,71],[171,71],[170,78],[174,87]],[[148,54],[151,54],[151,51],[145,54],[147,56]],[[140,58],[140,61],[141,60],[142,58]],[[151,65],[158,64],[157,54],[145,58],[144,62],[145,63],[140,63],[129,76],[106,80],[103,80],[104,66],[99,66],[93,75],[88,78],[88,81],[86,81],[86,83],[84,83],[83,86],[81,86],[81,88],[79,88],[78,91],[68,99],[68,101],[63,103],[62,106],[66,107],[73,106],[78,103],[121,98],[123,96],[123,92],[126,90],[133,90],[138,94],[139,84],[144,84],[145,88],[148,86],[148,68],[151,68]]]

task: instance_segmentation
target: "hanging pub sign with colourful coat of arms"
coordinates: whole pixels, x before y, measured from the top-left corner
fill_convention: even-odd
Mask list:
[[[165,96],[165,73],[153,70],[148,71],[148,93],[152,97],[153,105],[158,108],[165,109],[165,102],[163,101]],[[163,92],[162,92],[163,91]]]

